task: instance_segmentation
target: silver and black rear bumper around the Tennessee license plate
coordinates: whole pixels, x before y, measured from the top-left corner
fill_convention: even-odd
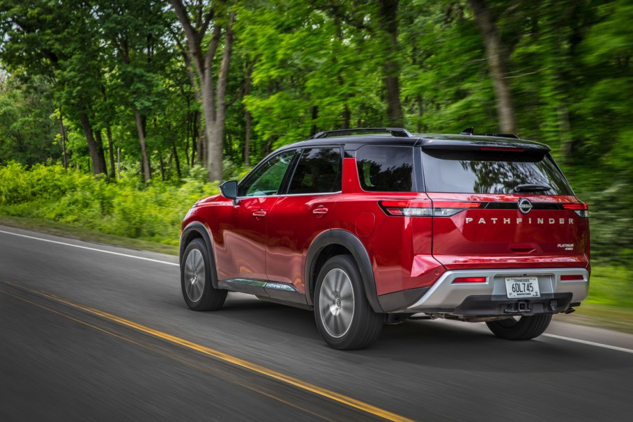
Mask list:
[[[561,281],[561,275],[582,275],[582,280]],[[523,276],[537,277],[540,297],[508,299],[506,277]],[[454,283],[460,277],[485,277],[486,281]],[[580,303],[588,291],[589,272],[584,268],[456,270],[443,273],[433,286],[420,292],[416,301],[390,303],[387,312],[455,316],[556,313],[565,311],[571,303]]]

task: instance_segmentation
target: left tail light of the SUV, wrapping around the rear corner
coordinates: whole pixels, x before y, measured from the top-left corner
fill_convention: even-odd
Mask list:
[[[450,217],[458,212],[479,208],[480,202],[465,201],[430,201],[422,200],[383,200],[378,201],[385,214],[406,217]]]

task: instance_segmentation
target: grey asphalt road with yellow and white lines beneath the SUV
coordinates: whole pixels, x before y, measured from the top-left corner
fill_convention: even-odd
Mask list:
[[[0,421],[632,414],[627,334],[555,321],[510,342],[482,324],[407,321],[370,349],[335,351],[305,310],[240,294],[188,310],[176,257],[0,226]]]

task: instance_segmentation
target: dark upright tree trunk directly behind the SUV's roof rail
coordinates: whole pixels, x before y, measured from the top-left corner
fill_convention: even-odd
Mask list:
[[[400,103],[400,64],[398,63],[398,2],[399,0],[380,0],[378,21],[383,27],[383,82],[387,92],[387,125],[402,127],[402,104]]]

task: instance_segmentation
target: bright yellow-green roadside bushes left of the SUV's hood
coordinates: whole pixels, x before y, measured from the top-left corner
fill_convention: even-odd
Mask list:
[[[120,182],[94,179],[62,166],[31,170],[12,162],[0,167],[0,214],[59,221],[107,234],[177,245],[180,223],[192,204],[218,187],[195,171],[178,184],[136,177]]]

